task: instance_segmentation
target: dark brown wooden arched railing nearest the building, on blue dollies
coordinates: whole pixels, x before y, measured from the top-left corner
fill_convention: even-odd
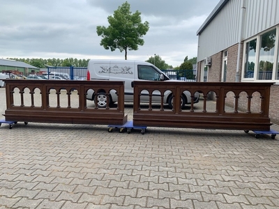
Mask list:
[[[133,124],[153,127],[191,127],[232,130],[270,130],[269,118],[270,87],[273,83],[221,83],[221,82],[134,82]],[[149,108],[141,108],[141,93],[149,92]],[[172,91],[174,105],[172,111],[152,109],[152,92]],[[191,104],[188,110],[181,109],[181,94],[189,91]],[[195,92],[200,93],[202,111],[195,111]],[[255,102],[253,95],[259,95]],[[245,95],[243,97],[243,95]],[[216,108],[208,111],[208,100],[216,102]],[[241,102],[239,101],[241,99]],[[225,111],[226,102],[231,102],[232,111]],[[243,104],[244,103],[244,104]],[[257,104],[253,104],[257,103]],[[239,107],[245,107],[243,110]],[[253,111],[254,107],[258,111]]]

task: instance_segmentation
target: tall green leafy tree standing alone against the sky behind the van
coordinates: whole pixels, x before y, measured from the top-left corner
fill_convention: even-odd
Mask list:
[[[144,45],[142,36],[149,30],[149,22],[142,23],[140,15],[138,10],[135,13],[130,12],[127,1],[123,3],[114,11],[113,17],[107,17],[110,26],[97,26],[97,34],[102,37],[100,45],[112,52],[115,49],[124,51],[127,59],[127,50],[137,50],[138,45]]]

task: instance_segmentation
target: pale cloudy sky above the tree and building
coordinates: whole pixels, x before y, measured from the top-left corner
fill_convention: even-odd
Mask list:
[[[0,0],[0,58],[124,59],[100,46],[96,26],[126,0]],[[176,67],[197,56],[196,32],[220,0],[127,0],[149,22],[144,45],[128,59],[154,54]]]

